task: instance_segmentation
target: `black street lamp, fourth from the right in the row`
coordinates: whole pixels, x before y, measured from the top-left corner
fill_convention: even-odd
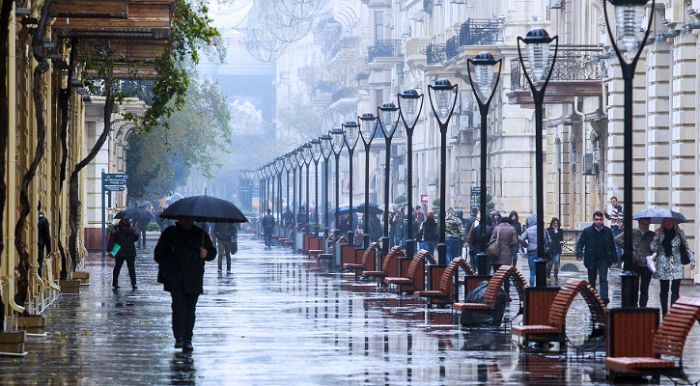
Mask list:
[[[457,104],[457,84],[447,79],[438,79],[428,85],[430,107],[440,127],[440,244],[438,244],[438,262],[447,264],[447,246],[445,245],[445,188],[447,186],[447,128]],[[433,102],[433,100],[435,102]],[[435,104],[437,103],[437,106]]]

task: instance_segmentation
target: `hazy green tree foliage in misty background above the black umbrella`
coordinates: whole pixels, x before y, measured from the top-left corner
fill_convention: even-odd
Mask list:
[[[226,98],[214,83],[190,83],[182,109],[150,131],[132,135],[127,150],[127,187],[133,199],[164,195],[192,168],[206,176],[231,143]]]

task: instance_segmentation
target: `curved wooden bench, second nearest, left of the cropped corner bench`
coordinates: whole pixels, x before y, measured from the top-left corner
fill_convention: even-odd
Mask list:
[[[530,341],[559,342],[560,349],[566,343],[566,313],[577,294],[581,294],[591,312],[593,329],[591,336],[605,333],[607,309],[596,290],[586,280],[571,278],[559,289],[549,308],[547,324],[513,326],[513,334]]]

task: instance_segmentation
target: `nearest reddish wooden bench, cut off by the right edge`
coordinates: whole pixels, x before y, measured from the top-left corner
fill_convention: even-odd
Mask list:
[[[700,318],[700,298],[680,297],[664,317],[654,334],[653,350],[648,357],[607,357],[605,368],[617,375],[668,375],[685,379],[683,348],[688,333]]]

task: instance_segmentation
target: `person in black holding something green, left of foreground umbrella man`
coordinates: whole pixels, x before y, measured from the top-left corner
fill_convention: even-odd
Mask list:
[[[134,243],[139,240],[139,233],[131,227],[128,219],[121,219],[109,235],[109,245],[107,251],[109,256],[114,257],[114,270],[112,271],[112,288],[119,289],[119,272],[126,261],[131,279],[131,289],[136,287],[136,247]]]

